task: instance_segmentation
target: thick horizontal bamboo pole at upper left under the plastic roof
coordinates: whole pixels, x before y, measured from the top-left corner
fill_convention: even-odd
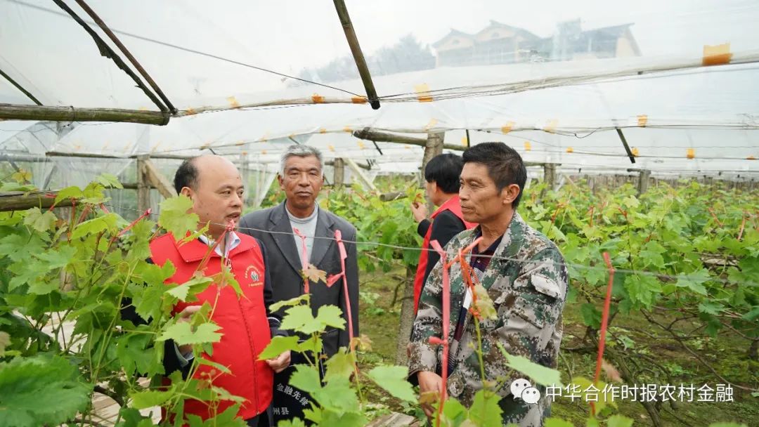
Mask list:
[[[43,121],[118,121],[127,123],[168,123],[168,112],[121,108],[74,108],[47,105],[0,104],[0,119]]]

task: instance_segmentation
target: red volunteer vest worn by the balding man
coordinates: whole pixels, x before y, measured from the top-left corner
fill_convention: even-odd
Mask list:
[[[208,301],[211,306],[216,302],[211,320],[221,326],[222,339],[213,344],[213,356],[203,353],[203,358],[226,366],[230,374],[219,372],[211,366],[198,367],[193,378],[211,378],[213,385],[224,388],[235,396],[245,398],[238,416],[242,419],[253,418],[263,413],[272,400],[274,372],[258,355],[271,341],[269,322],[263,301],[263,256],[257,241],[246,234],[238,234],[241,243],[231,250],[231,272],[239,282],[243,295],[238,297],[231,286],[219,288],[212,284],[200,294],[198,301],[178,303],[174,313],[181,312],[190,305],[201,305]],[[150,243],[150,253],[156,265],[171,261],[176,268],[175,275],[166,280],[167,284],[181,284],[189,280],[200,261],[206,256],[209,246],[200,240],[192,240],[178,246],[172,235],[165,234]],[[221,271],[222,259],[214,251],[203,274],[211,276]],[[218,300],[217,298],[218,295]],[[197,355],[196,355],[197,356]],[[168,381],[168,380],[167,380]],[[216,413],[222,413],[233,404],[231,400],[222,400]],[[206,402],[185,400],[184,413],[192,413],[203,419],[213,416]]]

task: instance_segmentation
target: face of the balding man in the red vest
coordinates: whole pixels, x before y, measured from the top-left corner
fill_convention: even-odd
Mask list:
[[[192,199],[193,212],[200,217],[200,224],[210,221],[209,234],[219,237],[229,221],[235,226],[240,221],[245,190],[240,172],[227,159],[216,156],[196,159],[195,167],[198,171],[196,189],[184,187],[182,193]]]

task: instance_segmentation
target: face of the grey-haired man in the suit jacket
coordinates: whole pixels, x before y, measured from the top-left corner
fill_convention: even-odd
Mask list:
[[[285,190],[288,204],[294,209],[310,209],[323,184],[319,159],[315,155],[292,155],[285,162],[284,173],[279,177],[279,187]]]

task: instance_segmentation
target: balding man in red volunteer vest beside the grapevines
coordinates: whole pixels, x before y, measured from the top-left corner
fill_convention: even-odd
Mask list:
[[[238,296],[231,286],[212,284],[197,294],[197,302],[192,305],[179,303],[174,307],[181,320],[187,321],[203,303],[215,305],[211,320],[221,326],[223,335],[221,341],[213,344],[213,355],[193,354],[191,346],[171,344],[164,361],[166,373],[181,369],[186,375],[193,357],[227,366],[231,374],[201,365],[194,378],[213,378],[214,386],[244,397],[238,416],[251,426],[268,425],[267,408],[272,399],[273,374],[289,365],[290,352],[282,353],[276,359],[258,360],[272,335],[279,333],[280,320],[269,312],[272,284],[263,244],[246,234],[227,231],[225,225],[230,222],[237,225],[240,220],[244,192],[240,173],[228,159],[202,155],[182,163],[175,174],[174,185],[177,193],[192,200],[191,212],[200,218],[198,227],[209,224],[209,229],[206,236],[182,245],[171,234],[153,240],[150,243],[153,262],[163,265],[171,261],[176,273],[167,283],[176,284],[189,280],[198,270],[206,276],[216,275],[222,265],[227,265],[243,295]],[[213,247],[217,240],[221,241],[201,265],[209,253],[209,246]],[[231,404],[229,400],[222,400],[214,409],[207,402],[186,400],[184,413],[208,419],[215,413],[224,412]]]

